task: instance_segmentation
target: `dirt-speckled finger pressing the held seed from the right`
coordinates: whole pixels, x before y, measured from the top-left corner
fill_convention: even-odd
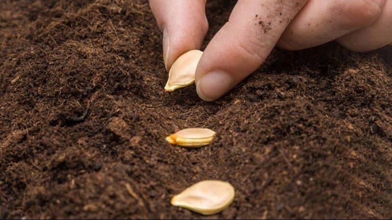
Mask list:
[[[238,0],[196,68],[199,97],[212,101],[257,69],[306,0]]]

